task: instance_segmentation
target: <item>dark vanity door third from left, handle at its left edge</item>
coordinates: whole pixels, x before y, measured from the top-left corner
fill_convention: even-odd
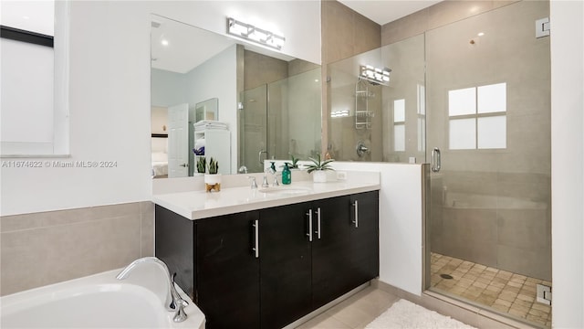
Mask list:
[[[318,200],[312,208],[312,304],[316,309],[355,288],[348,275],[351,260],[347,257],[353,228],[349,196]]]

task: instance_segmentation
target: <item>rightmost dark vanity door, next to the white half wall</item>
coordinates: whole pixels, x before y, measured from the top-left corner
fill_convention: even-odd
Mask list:
[[[354,284],[379,276],[379,191],[360,193],[351,199],[350,273]]]

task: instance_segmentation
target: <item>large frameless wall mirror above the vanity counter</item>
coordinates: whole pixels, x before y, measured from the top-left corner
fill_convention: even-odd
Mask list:
[[[320,66],[151,16],[152,177],[262,172],[320,150]]]

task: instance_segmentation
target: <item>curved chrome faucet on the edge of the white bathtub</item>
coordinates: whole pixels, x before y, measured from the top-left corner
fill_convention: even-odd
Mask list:
[[[132,271],[136,267],[136,265],[141,263],[157,264],[161,268],[161,270],[164,271],[169,286],[168,293],[166,294],[166,301],[164,302],[164,307],[169,312],[176,311],[176,313],[174,313],[174,317],[172,318],[172,321],[174,321],[175,323],[180,323],[186,320],[184,306],[188,305],[188,302],[184,301],[183,298],[181,298],[179,293],[176,291],[176,288],[174,288],[174,275],[176,275],[176,273],[171,276],[171,272],[168,271],[168,267],[162,260],[159,260],[156,257],[144,257],[139,260],[134,260],[130,263],[130,265],[126,266],[125,269],[120,271],[120,274],[116,276],[116,279],[124,280],[128,278],[128,276],[130,275],[130,271]]]

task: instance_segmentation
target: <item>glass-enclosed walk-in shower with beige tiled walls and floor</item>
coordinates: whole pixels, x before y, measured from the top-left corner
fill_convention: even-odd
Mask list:
[[[426,289],[549,327],[549,3],[519,1],[330,64],[328,143],[345,161],[433,163]],[[368,129],[360,65],[391,68]],[[367,154],[358,154],[359,145]],[[436,162],[440,160],[440,169]],[[547,294],[548,296],[549,294]]]

